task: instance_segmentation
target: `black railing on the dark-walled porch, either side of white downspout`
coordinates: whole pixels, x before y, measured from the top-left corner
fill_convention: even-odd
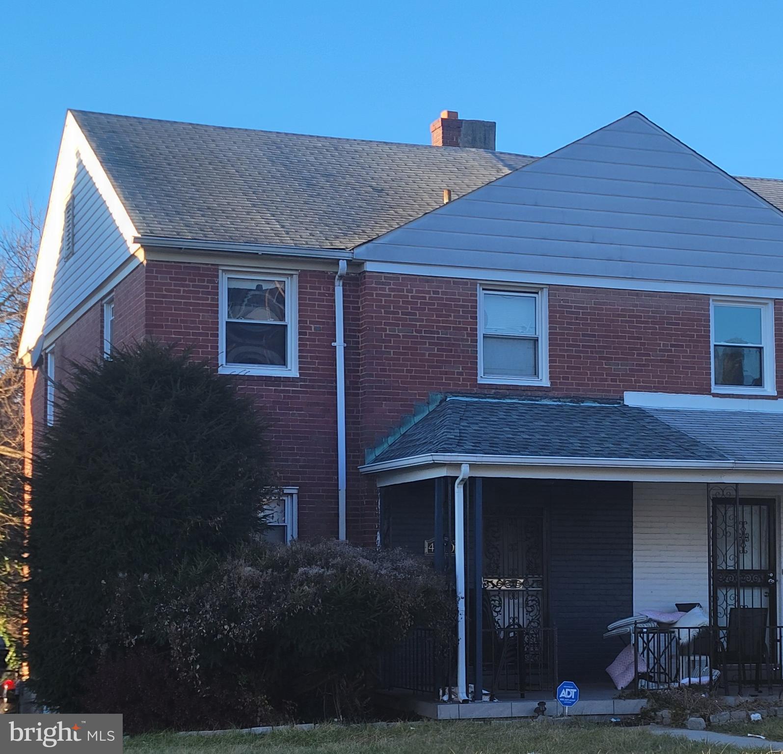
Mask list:
[[[482,632],[483,688],[475,700],[524,698],[557,687],[557,629],[511,626]],[[468,684],[474,687],[474,653],[469,651]],[[384,652],[381,687],[412,691],[450,701],[456,696],[456,641],[438,639],[431,629],[414,628],[405,640]]]

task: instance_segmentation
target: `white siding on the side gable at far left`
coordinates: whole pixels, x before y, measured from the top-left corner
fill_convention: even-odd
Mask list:
[[[70,197],[73,236],[69,241],[67,225],[64,225],[45,333],[130,258],[128,243],[81,160],[77,161]],[[72,247],[70,254],[69,244]],[[135,258],[132,259],[135,262]]]

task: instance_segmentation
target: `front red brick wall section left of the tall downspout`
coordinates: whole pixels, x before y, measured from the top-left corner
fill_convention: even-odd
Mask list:
[[[217,363],[216,265],[148,262],[146,334]],[[299,488],[299,534],[337,536],[334,272],[299,273],[299,377],[232,377],[269,422],[280,485]]]

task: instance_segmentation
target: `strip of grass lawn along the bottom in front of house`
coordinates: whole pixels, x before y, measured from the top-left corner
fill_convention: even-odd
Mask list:
[[[314,731],[178,736],[125,742],[128,754],[738,754],[741,749],[654,736],[609,724],[443,721],[392,727],[323,726]],[[762,750],[763,751],[763,750]],[[759,754],[759,750],[755,751]]]

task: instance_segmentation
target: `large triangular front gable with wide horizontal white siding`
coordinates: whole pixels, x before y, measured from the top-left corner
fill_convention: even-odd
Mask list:
[[[631,114],[363,244],[355,257],[368,269],[397,263],[421,275],[442,265],[452,276],[492,270],[493,279],[530,283],[568,276],[603,287],[783,290],[783,213]]]

